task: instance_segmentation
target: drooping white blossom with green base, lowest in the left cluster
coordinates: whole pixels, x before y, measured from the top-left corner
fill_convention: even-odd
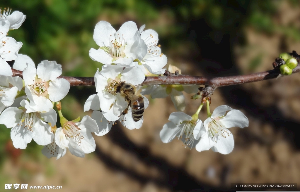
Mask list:
[[[84,157],[85,153],[95,151],[96,144],[91,132],[97,131],[96,121],[84,116],[78,123],[67,121],[59,127],[55,132],[55,142],[61,149],[69,149],[73,155]]]

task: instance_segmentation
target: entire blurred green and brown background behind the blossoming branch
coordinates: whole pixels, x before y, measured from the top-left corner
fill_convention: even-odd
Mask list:
[[[19,53],[36,65],[55,60],[68,76],[92,77],[101,68],[88,56],[91,47],[98,48],[92,35],[100,20],[116,29],[129,20],[154,29],[168,63],[182,74],[266,71],[281,52],[300,51],[298,1],[2,1],[8,6],[27,15],[22,27],[10,32],[23,43]],[[293,74],[218,88],[211,111],[229,105],[249,119],[249,127],[230,129],[235,146],[229,155],[184,149],[177,140],[163,144],[159,132],[176,111],[170,98],[150,100],[140,129],[118,123],[107,135],[95,136],[96,151],[85,158],[67,152],[57,161],[47,159],[34,141],[26,150],[15,149],[10,129],[1,125],[0,191],[7,183],[62,185],[59,191],[74,192],[227,191],[237,182],[298,183],[299,188],[299,85],[300,75]],[[91,94],[95,87],[71,87],[62,101],[69,120],[91,115],[82,112]],[[186,96],[184,112],[192,115],[200,100]],[[199,117],[206,119],[204,110]]]

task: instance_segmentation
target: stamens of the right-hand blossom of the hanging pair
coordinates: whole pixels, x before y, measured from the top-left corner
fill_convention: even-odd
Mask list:
[[[208,134],[214,142],[217,142],[218,136],[226,138],[230,133],[219,119],[213,119],[208,124]]]

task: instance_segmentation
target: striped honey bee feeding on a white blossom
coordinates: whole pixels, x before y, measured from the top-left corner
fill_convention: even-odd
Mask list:
[[[122,112],[121,115],[128,113],[128,108],[131,107],[132,118],[135,122],[140,121],[143,117],[145,105],[144,98],[141,94],[137,95],[137,88],[145,85],[156,85],[161,81],[155,81],[150,83],[142,83],[139,85],[131,85],[125,83],[125,81],[120,81],[116,84],[115,93],[120,93],[122,97],[125,98],[125,101],[128,102],[128,107]]]

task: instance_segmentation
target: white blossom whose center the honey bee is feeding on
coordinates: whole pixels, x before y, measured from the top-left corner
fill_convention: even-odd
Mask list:
[[[143,83],[145,75],[140,68],[125,68],[120,65],[104,65],[95,74],[96,92],[100,100],[100,107],[108,121],[116,121],[128,107],[128,102],[121,94],[116,94],[115,86],[125,81],[133,86]]]

